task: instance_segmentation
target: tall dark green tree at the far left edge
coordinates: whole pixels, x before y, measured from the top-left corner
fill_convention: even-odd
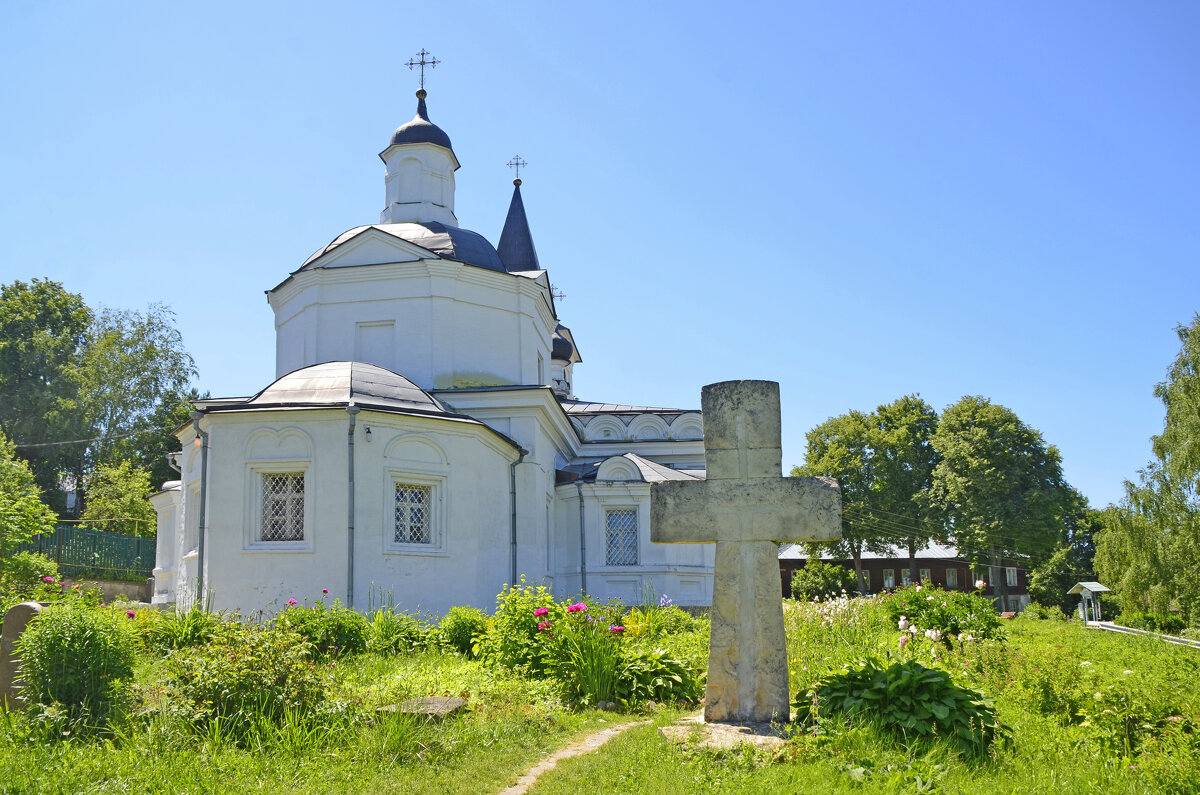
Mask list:
[[[59,509],[61,474],[79,471],[79,447],[61,442],[86,436],[78,366],[91,319],[83,297],[59,282],[0,286],[0,430]]]

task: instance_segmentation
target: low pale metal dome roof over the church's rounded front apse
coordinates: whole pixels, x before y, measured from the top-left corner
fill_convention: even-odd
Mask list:
[[[221,408],[323,408],[350,402],[360,408],[457,417],[404,376],[364,361],[325,361],[300,367],[250,400]]]

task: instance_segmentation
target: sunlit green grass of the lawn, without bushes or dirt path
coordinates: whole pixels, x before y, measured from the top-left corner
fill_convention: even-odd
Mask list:
[[[923,594],[924,596],[924,594]],[[305,664],[329,699],[296,719],[238,734],[197,723],[166,687],[170,656],[140,652],[137,707],[101,736],[49,739],[0,713],[2,793],[486,793],[551,751],[644,717],[599,751],[562,761],[536,793],[1160,793],[1198,791],[1200,652],[1078,622],[1014,620],[1002,638],[941,644],[901,633],[881,605],[787,603],[793,692],[865,658],[919,660],[994,704],[1010,742],[980,757],[943,737],[905,736],[869,716],[818,710],[782,749],[676,746],[659,728],[695,706],[623,713],[572,707],[551,676],[521,676],[449,650],[362,653]],[[131,624],[136,622],[130,622]],[[700,662],[704,623],[653,640]],[[264,663],[265,664],[265,663]],[[444,723],[378,712],[419,695],[460,695]]]

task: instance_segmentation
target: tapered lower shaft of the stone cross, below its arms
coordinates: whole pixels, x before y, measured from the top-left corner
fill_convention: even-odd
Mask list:
[[[704,721],[791,717],[779,544],[716,542]]]

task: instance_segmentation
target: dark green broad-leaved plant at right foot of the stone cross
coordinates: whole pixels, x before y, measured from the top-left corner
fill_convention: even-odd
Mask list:
[[[860,715],[904,736],[946,739],[965,755],[982,755],[1009,730],[980,693],[955,685],[943,670],[916,660],[881,668],[868,660],[860,668],[830,674],[797,695],[797,721],[823,716]]]

